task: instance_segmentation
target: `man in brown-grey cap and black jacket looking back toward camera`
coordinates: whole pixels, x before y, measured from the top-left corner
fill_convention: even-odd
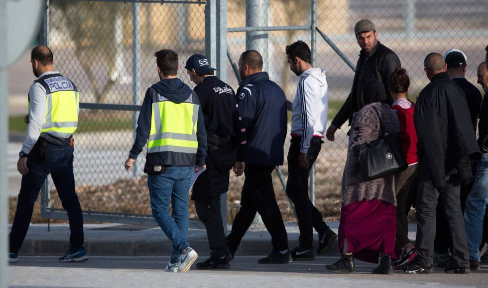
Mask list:
[[[356,64],[356,74],[354,74],[351,93],[327,129],[326,137],[329,141],[334,141],[334,134],[347,120],[351,125],[353,114],[363,108],[361,92],[363,91],[363,84],[367,80],[380,80],[386,90],[388,102],[393,103],[388,81],[391,73],[401,68],[400,59],[395,52],[378,41],[378,32],[370,20],[363,19],[356,23],[354,32],[361,47],[361,53]]]

